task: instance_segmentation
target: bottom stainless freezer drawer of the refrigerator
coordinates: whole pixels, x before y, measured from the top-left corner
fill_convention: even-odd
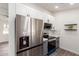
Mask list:
[[[27,50],[20,51],[17,56],[43,56],[43,45],[31,47]]]

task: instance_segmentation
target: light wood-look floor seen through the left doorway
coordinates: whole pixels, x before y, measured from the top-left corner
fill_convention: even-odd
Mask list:
[[[0,56],[8,56],[8,42],[0,43]]]

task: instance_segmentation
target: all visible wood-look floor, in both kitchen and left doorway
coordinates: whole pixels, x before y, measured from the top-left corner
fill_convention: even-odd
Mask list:
[[[9,50],[8,43],[0,44],[0,56],[8,56],[8,50]],[[79,55],[59,48],[50,56],[79,56]]]

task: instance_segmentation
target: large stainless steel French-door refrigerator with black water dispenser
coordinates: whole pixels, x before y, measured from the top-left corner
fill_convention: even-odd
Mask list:
[[[42,56],[43,28],[44,23],[41,19],[16,15],[16,55]]]

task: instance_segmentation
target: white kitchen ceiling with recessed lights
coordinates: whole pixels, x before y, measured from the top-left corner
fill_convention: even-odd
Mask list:
[[[79,8],[79,3],[75,3],[74,5],[70,5],[69,3],[32,3],[38,7],[46,9],[50,12],[60,12],[69,9]],[[55,6],[59,6],[59,8],[55,8]]]

